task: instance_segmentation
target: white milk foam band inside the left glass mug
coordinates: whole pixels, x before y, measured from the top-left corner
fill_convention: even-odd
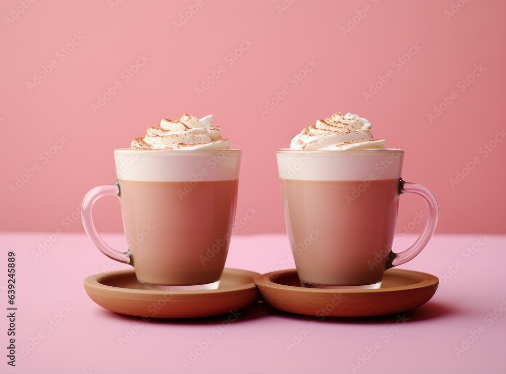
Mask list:
[[[200,182],[239,178],[241,151],[138,151],[115,149],[118,179]]]

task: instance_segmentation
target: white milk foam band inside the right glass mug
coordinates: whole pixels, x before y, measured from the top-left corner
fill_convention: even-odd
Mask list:
[[[379,180],[401,176],[404,151],[293,151],[276,153],[279,177],[298,180]]]

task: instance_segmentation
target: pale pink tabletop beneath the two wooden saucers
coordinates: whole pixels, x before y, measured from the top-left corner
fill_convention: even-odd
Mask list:
[[[0,372],[506,372],[506,235],[436,235],[401,267],[437,275],[439,289],[426,305],[403,313],[402,322],[396,315],[320,321],[258,303],[228,323],[227,316],[142,321],[99,307],[82,280],[129,267],[102,255],[84,234],[58,236],[35,259],[33,251],[53,234],[0,234],[4,314],[7,253],[16,253],[18,356],[16,367],[7,364],[4,317]],[[121,235],[104,239],[124,246]],[[402,238],[400,247],[413,240]],[[285,235],[236,236],[227,267],[293,268],[289,253]]]

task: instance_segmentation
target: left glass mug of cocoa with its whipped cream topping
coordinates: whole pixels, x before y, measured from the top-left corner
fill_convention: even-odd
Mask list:
[[[150,127],[132,148],[115,149],[117,181],[92,189],[82,221],[105,255],[130,264],[144,289],[218,288],[235,218],[241,151],[212,116],[184,115]],[[92,220],[95,201],[121,201],[127,252],[109,247]]]

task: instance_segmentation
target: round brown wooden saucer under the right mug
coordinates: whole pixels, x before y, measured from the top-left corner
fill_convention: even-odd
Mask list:
[[[286,312],[319,317],[363,317],[405,312],[427,303],[439,279],[427,273],[390,269],[378,289],[301,287],[295,269],[255,278],[262,298]]]

